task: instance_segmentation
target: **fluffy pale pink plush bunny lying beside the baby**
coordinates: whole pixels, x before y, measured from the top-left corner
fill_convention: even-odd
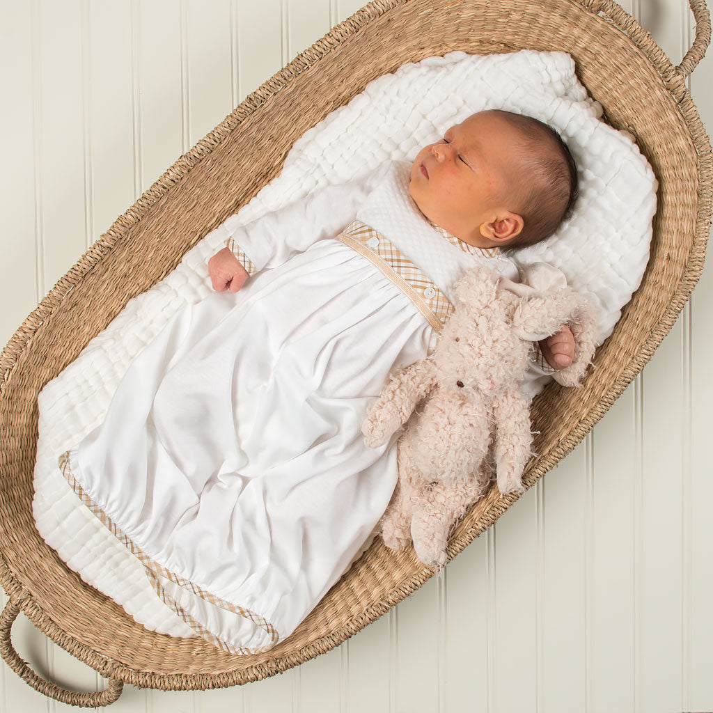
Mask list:
[[[462,277],[434,353],[392,376],[362,427],[366,445],[375,448],[409,421],[381,536],[392,550],[413,540],[431,567],[446,563],[448,534],[486,493],[492,461],[501,493],[522,489],[532,434],[520,383],[534,342],[569,325],[573,363],[553,374],[565,386],[578,386],[593,358],[595,311],[588,299],[545,263],[524,277],[498,279],[487,267]]]

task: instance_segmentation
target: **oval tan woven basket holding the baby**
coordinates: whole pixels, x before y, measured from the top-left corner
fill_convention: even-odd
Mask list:
[[[533,430],[540,434],[533,448],[541,456],[530,464],[525,485],[571,451],[641,371],[703,267],[712,155],[685,78],[708,46],[710,21],[703,0],[690,2],[696,39],[674,67],[611,0],[376,0],[248,96],[180,158],[56,284],[0,357],[0,579],[10,597],[0,615],[0,652],[6,662],[42,693],[86,706],[116,700],[123,682],[160,689],[245,683],[339,645],[431,576],[412,550],[394,555],[377,540],[287,640],[261,655],[229,655],[201,638],[145,630],[68,570],[37,533],[31,509],[36,402],[43,385],[130,297],[163,279],[195,240],[272,180],[305,130],[405,62],[453,50],[568,52],[607,120],[637,137],[659,179],[652,252],[641,287],[597,352],[597,368],[584,388],[575,394],[550,384],[535,401]],[[172,230],[162,230],[165,225]],[[486,496],[456,530],[448,555],[494,523],[515,497]],[[108,677],[108,688],[77,694],[34,674],[11,645],[11,626],[21,610],[58,645]]]

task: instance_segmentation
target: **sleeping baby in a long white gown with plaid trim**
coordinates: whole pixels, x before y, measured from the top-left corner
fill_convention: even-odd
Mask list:
[[[540,122],[477,113],[426,146],[237,230],[215,292],[130,364],[103,424],[61,458],[193,629],[252,652],[289,635],[369,538],[396,484],[396,439],[361,423],[389,374],[421,359],[451,287],[544,240],[576,195]],[[540,344],[554,368],[569,329]],[[533,363],[523,389],[541,379]],[[237,615],[237,616],[236,616]]]

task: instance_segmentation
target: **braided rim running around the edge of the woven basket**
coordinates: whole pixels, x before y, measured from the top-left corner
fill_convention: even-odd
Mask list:
[[[374,0],[369,5],[357,11],[354,15],[342,21],[342,23],[335,26],[328,34],[322,37],[322,39],[319,39],[311,47],[300,53],[294,60],[287,64],[287,66],[275,73],[274,76],[250,93],[219,125],[170,166],[150,188],[143,192],[132,206],[113,222],[107,232],[94,243],[70,270],[68,270],[66,275],[58,280],[46,297],[41,300],[38,307],[29,314],[23,324],[21,324],[21,327],[16,330],[0,354],[0,371],[2,372],[2,379],[0,379],[0,396],[6,384],[11,379],[17,362],[24,351],[29,348],[32,337],[34,337],[36,331],[41,327],[41,324],[43,324],[53,311],[61,307],[63,299],[66,298],[73,287],[78,284],[98,262],[103,260],[103,258],[108,255],[108,252],[111,252],[116,242],[121,240],[133,225],[142,220],[155,202],[160,200],[176,183],[183,180],[195,165],[198,165],[200,161],[210,155],[212,150],[220,145],[222,140],[232,133],[242,121],[257,111],[257,109],[264,106],[265,103],[270,101],[272,96],[282,91],[282,89],[294,81],[299,74],[312,67],[322,57],[339,47],[345,41],[351,39],[352,36],[358,34],[361,29],[364,29],[375,19],[378,19],[383,14],[386,14],[398,6],[409,4],[412,1],[415,0]],[[554,463],[558,462],[567,453],[573,450],[585,434],[590,431],[593,424],[605,414],[622,391],[624,391],[626,386],[630,384],[630,381],[634,379],[636,374],[643,369],[655,352],[655,349],[659,346],[660,342],[662,342],[662,339],[670,331],[701,275],[710,225],[711,204],[713,202],[712,149],[697,108],[685,85],[684,76],[677,72],[677,68],[673,66],[660,46],[653,41],[650,34],[645,31],[637,21],[626,14],[620,6],[613,3],[612,0],[562,1],[580,6],[582,11],[587,11],[594,15],[599,13],[605,14],[607,20],[612,22],[612,26],[622,32],[624,29],[622,29],[620,23],[625,21],[625,34],[630,41],[644,53],[650,62],[650,66],[657,73],[667,91],[669,91],[674,98],[684,124],[687,130],[689,130],[692,143],[694,143],[698,155],[699,200],[692,251],[674,297],[663,314],[662,319],[660,319],[657,327],[652,330],[645,344],[643,344],[639,352],[637,352],[635,357],[630,361],[627,368],[617,377],[612,388],[607,391],[607,394],[602,396],[602,399],[597,402],[593,409],[590,409],[587,418],[580,421],[574,429],[570,430],[568,434],[564,436],[558,446],[550,452],[549,458],[538,461],[530,468],[528,471],[528,486],[531,486],[542,477],[544,473],[548,472]],[[622,18],[622,15],[625,16],[625,18]],[[486,518],[482,523],[478,523],[478,528],[468,530],[468,532],[464,533],[464,536],[461,537],[461,540],[468,538],[467,541],[470,542],[474,536],[491,525],[492,522],[497,519],[500,512],[505,511],[517,497],[518,496],[511,495],[501,498],[501,511],[492,510],[491,513],[493,517],[491,519]],[[0,524],[0,530],[1,528],[2,525]],[[449,558],[462,550],[464,546],[465,544],[462,546],[460,544],[451,545],[451,548],[448,550]],[[358,622],[347,622],[347,625],[344,626],[340,632],[333,632],[332,635],[315,640],[307,647],[304,647],[303,650],[300,650],[299,660],[294,660],[295,657],[293,656],[291,657],[293,660],[287,662],[286,665],[275,665],[274,670],[270,670],[270,666],[266,665],[261,667],[259,673],[253,672],[252,677],[246,677],[245,672],[242,670],[232,670],[222,674],[160,674],[156,672],[135,671],[126,665],[111,660],[105,655],[92,650],[88,645],[74,639],[68,632],[56,625],[51,616],[43,610],[41,603],[34,600],[31,593],[21,586],[7,565],[3,553],[0,550],[0,582],[9,597],[11,597],[11,600],[21,600],[23,602],[24,612],[34,625],[40,628],[54,642],[70,652],[71,655],[86,662],[100,674],[141,687],[160,689],[206,689],[224,687],[246,682],[247,680],[252,680],[257,677],[263,677],[266,674],[277,672],[277,670],[285,670],[297,663],[309,660],[309,658],[316,656],[323,650],[332,648],[334,645],[338,645],[352,634],[361,630],[364,625],[375,620],[378,616],[389,610],[391,606],[419,588],[432,574],[432,571],[428,568],[414,573],[408,582],[399,588],[399,590],[392,590],[386,600],[381,600],[378,605],[371,607],[371,610],[364,612],[364,617],[362,618],[366,618],[368,621],[364,622],[359,620]],[[323,641],[328,644],[326,648],[322,647]],[[302,654],[304,654],[304,656],[302,656]]]

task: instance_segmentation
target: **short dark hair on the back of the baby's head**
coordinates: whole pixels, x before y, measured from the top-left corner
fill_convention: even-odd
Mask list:
[[[514,250],[545,240],[570,217],[579,180],[573,155],[555,129],[524,114],[500,110],[498,114],[520,131],[525,142],[517,206],[524,225],[520,235],[506,247]]]

